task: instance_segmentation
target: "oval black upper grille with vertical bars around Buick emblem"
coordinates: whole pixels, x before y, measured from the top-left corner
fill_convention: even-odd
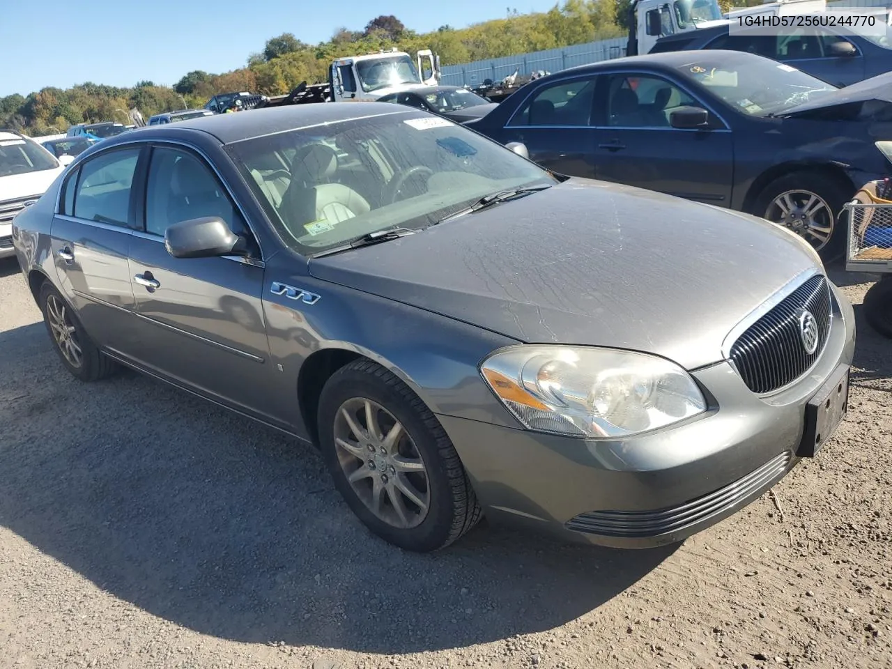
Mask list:
[[[818,343],[808,353],[799,318],[810,311],[818,327]],[[821,356],[830,334],[830,284],[816,275],[805,280],[731,346],[731,361],[753,392],[772,392],[796,381]]]

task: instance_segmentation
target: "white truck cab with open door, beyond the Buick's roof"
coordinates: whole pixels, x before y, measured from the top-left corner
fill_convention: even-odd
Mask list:
[[[348,56],[332,62],[328,78],[333,102],[369,102],[399,90],[436,86],[441,78],[440,58],[425,49],[413,61],[395,48]]]

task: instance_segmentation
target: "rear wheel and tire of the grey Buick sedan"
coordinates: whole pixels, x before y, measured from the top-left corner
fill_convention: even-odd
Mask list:
[[[40,310],[44,314],[46,332],[50,335],[54,349],[62,359],[62,364],[73,376],[81,381],[98,381],[115,372],[118,366],[114,360],[99,351],[84,330],[75,310],[49,281],[45,281],[40,286],[39,304]],[[69,338],[80,353],[79,363],[76,361],[77,356],[70,356],[71,349],[61,343],[60,337],[57,336],[56,331],[61,322],[60,318],[66,326],[71,328]]]

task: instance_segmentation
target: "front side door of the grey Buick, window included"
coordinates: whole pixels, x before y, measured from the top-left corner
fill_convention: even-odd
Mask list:
[[[164,246],[167,227],[206,216],[219,217],[246,236],[254,257],[171,256]],[[133,235],[129,263],[139,323],[137,361],[235,409],[268,418],[256,393],[271,375],[260,253],[219,179],[185,147],[152,149],[145,230]]]

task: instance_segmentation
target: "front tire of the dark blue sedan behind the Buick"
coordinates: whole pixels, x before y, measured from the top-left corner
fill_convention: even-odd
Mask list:
[[[815,195],[830,212],[832,221],[832,230],[830,238],[822,245],[816,244],[814,239],[805,236],[805,239],[812,243],[818,254],[824,262],[838,260],[845,252],[846,244],[846,221],[840,220],[840,212],[843,205],[852,198],[854,191],[847,188],[838,179],[831,178],[821,172],[799,171],[785,174],[784,176],[774,179],[768,186],[765,186],[761,193],[756,196],[750,213],[769,219],[775,223],[778,220],[778,210],[772,207],[772,203],[780,198],[782,194],[790,192],[801,192]],[[794,197],[794,202],[802,202]],[[770,211],[772,210],[772,211]],[[787,227],[797,234],[801,234],[802,220],[795,219],[795,216],[801,215],[801,212],[794,214],[793,219],[789,219]]]

